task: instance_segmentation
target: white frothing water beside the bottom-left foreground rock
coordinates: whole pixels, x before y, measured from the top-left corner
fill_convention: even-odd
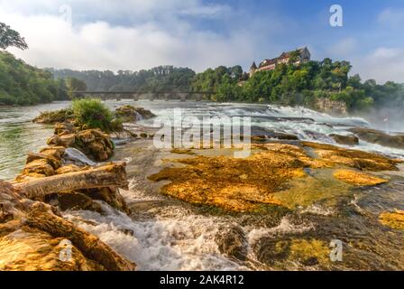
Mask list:
[[[215,236],[219,219],[179,213],[175,218],[134,221],[106,204],[102,206],[105,215],[68,211],[65,217],[135,262],[139,270],[247,269],[218,251]],[[96,222],[96,226],[77,217]],[[125,235],[122,229],[133,230],[133,236]]]

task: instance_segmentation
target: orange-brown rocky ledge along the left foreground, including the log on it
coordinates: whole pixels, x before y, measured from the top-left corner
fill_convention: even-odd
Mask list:
[[[69,117],[66,117],[69,116]],[[96,236],[62,218],[64,210],[95,210],[99,201],[129,214],[119,188],[127,188],[125,163],[110,135],[75,126],[66,113],[42,114],[54,121],[48,146],[27,156],[14,182],[0,181],[0,270],[134,270],[136,266]],[[71,257],[60,254],[69,247]]]

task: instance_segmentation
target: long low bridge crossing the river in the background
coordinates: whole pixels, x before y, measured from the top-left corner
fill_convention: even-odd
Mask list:
[[[192,100],[200,101],[202,99],[207,99],[215,92],[203,91],[203,92],[144,92],[144,91],[75,91],[73,96],[75,98],[100,98],[102,100],[106,99],[133,99],[138,100]]]

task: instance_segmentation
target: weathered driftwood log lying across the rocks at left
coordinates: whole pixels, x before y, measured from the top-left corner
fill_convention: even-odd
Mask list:
[[[14,188],[28,199],[83,189],[127,188],[127,185],[125,163],[111,163],[86,171],[69,172],[13,184]]]

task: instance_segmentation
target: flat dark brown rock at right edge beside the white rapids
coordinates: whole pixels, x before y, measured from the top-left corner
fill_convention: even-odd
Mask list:
[[[365,142],[404,149],[404,135],[388,135],[379,130],[355,127],[350,131]]]

